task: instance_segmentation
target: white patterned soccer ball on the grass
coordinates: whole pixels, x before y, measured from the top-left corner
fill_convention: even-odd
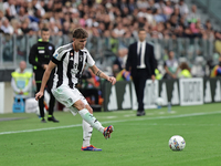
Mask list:
[[[182,151],[186,146],[183,137],[175,135],[169,139],[169,147],[172,151]]]

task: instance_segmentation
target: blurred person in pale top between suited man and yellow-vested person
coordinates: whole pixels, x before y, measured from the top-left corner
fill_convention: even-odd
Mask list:
[[[164,79],[177,79],[179,70],[178,61],[175,59],[175,52],[169,51],[169,59],[165,62],[165,75]]]

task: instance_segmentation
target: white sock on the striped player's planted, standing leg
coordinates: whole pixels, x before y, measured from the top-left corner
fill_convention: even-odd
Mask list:
[[[83,128],[83,147],[90,146],[93,127],[91,126],[91,124],[88,124],[86,121],[83,120],[82,128]]]

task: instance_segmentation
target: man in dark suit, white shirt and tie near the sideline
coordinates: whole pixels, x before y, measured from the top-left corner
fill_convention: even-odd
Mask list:
[[[126,71],[130,71],[137,95],[137,116],[145,115],[144,91],[147,79],[155,81],[156,59],[154,46],[146,42],[145,29],[138,30],[139,41],[129,45]]]

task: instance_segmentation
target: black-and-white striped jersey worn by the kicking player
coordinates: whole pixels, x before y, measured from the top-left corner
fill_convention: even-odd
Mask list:
[[[73,89],[82,76],[84,66],[93,66],[95,64],[95,61],[85,48],[75,52],[73,43],[56,49],[52,62],[56,64],[53,89],[63,84]]]

